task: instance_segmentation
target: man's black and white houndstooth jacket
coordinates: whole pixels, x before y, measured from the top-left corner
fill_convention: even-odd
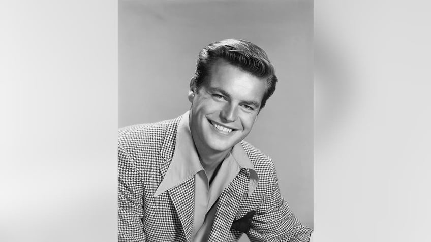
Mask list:
[[[154,196],[172,160],[180,118],[119,130],[118,241],[190,241],[194,176]],[[240,170],[219,197],[209,241],[237,241],[242,232],[232,224],[251,211],[256,212],[248,225],[251,241],[309,241],[312,230],[281,197],[272,160],[249,143],[241,144],[259,182],[248,196],[250,172]]]

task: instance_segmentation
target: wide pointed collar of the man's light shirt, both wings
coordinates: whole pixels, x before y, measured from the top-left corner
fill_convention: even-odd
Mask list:
[[[232,148],[229,156],[234,158],[240,168],[249,169],[250,185],[248,194],[250,196],[256,188],[259,179],[249,156],[245,153],[240,142]],[[187,111],[182,115],[178,124],[175,150],[171,164],[154,196],[156,197],[170,188],[189,180],[200,170],[203,170],[203,167],[199,161],[198,152],[193,142],[189,126],[189,111]]]

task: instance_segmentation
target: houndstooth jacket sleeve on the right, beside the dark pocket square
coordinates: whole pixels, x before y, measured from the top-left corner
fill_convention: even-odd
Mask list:
[[[270,179],[260,209],[247,233],[250,241],[308,242],[312,229],[303,226],[281,196],[274,163],[270,159]]]

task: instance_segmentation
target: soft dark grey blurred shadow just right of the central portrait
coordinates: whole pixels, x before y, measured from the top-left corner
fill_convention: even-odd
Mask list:
[[[349,56],[340,53],[333,37],[315,26],[314,35],[314,142],[324,149],[337,130],[343,128],[355,99],[354,86],[349,82]],[[316,147],[315,147],[316,148]]]

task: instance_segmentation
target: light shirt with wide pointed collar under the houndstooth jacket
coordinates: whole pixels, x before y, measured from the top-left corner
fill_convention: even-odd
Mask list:
[[[250,196],[258,183],[258,176],[250,158],[240,143],[236,144],[222,162],[219,171],[209,184],[193,142],[189,126],[189,111],[182,115],[178,125],[174,155],[165,177],[154,196],[195,177],[195,206],[192,227],[193,241],[207,241],[217,211],[217,200],[223,190],[241,169],[249,169]]]

